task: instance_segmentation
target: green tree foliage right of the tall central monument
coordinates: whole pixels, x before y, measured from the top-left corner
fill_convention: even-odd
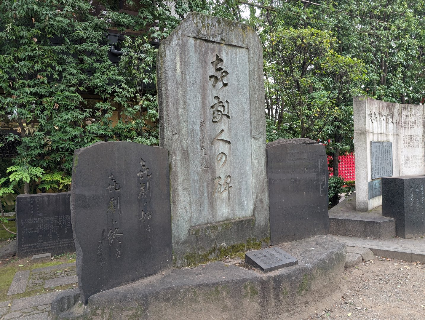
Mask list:
[[[258,30],[264,52],[268,52],[264,57],[266,102],[269,103],[268,138],[304,135],[320,138],[323,142],[329,140],[327,152],[337,159],[341,152],[353,150],[354,95],[364,92],[389,102],[422,102],[425,93],[423,1],[261,0],[250,3],[254,5],[250,6],[249,23]],[[291,71],[294,70],[293,73],[287,72],[286,65],[275,58],[278,54],[273,52],[276,44],[271,40],[272,35],[278,34],[275,38],[284,40],[291,33],[303,37],[308,30],[320,30],[320,37],[332,42],[329,51],[322,51],[323,54],[317,56],[314,67],[303,68],[307,60],[292,59],[292,52],[295,52],[291,51],[293,44],[282,42],[283,50],[289,49],[286,51],[289,56],[282,55],[283,62],[290,66]],[[303,46],[308,48],[304,50],[309,54],[317,43],[312,34],[305,40]],[[292,42],[302,45],[295,37],[292,37]],[[299,57],[302,58],[304,53],[300,50]],[[334,61],[333,68],[314,72],[320,56],[327,55],[331,56],[328,61]],[[344,72],[344,65],[348,74]],[[307,81],[300,75],[306,75]],[[297,82],[300,89],[303,89],[303,84],[306,88],[289,91],[291,87],[298,89]],[[285,93],[282,92],[283,85],[287,87]],[[337,91],[335,88],[338,88]],[[298,92],[302,94],[297,98]],[[303,112],[297,113],[288,107],[286,101],[294,99],[300,101],[299,106],[309,106],[308,102],[311,102],[321,112],[318,113],[317,109],[314,112],[314,108],[299,108]],[[287,110],[295,114],[289,116]],[[337,161],[333,163],[333,171],[337,176]]]

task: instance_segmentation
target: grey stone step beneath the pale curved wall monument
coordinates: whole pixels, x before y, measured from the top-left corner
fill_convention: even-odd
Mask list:
[[[329,210],[329,234],[373,239],[395,236],[395,220],[383,217],[382,207],[359,212],[355,204],[353,194]]]

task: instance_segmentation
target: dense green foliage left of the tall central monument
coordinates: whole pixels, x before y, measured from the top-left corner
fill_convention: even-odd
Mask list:
[[[235,1],[3,0],[0,121],[19,125],[14,164],[69,174],[73,152],[99,141],[158,143],[156,48],[188,11],[237,17]],[[126,34],[118,64],[108,29]],[[115,44],[116,45],[116,44]],[[91,96],[89,95],[91,94]],[[92,99],[90,99],[92,98]],[[113,116],[116,123],[112,123]]]

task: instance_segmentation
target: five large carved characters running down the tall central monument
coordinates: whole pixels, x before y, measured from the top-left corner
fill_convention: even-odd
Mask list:
[[[224,70],[224,60],[218,54],[215,55],[215,60],[211,61],[211,65],[215,72],[215,74],[212,74],[209,77],[210,81],[212,81],[212,88],[215,90],[213,92],[213,99],[215,101],[212,105],[210,105],[210,110],[212,110],[211,122],[213,124],[212,128],[214,129],[217,127],[218,131],[214,139],[211,141],[211,146],[215,143],[220,143],[219,146],[223,147],[226,144],[231,144],[230,140],[226,139],[226,130],[229,129],[230,121],[230,102],[226,99],[228,97],[220,97],[218,95],[218,91],[224,87],[227,87],[228,83],[224,82],[224,78],[229,75],[229,72]],[[224,118],[227,118],[228,121],[224,122]],[[216,167],[218,169],[225,168],[229,156],[230,155],[228,155],[226,152],[220,150],[220,152],[215,156]],[[230,200],[230,190],[232,189],[232,186],[230,185],[231,180],[232,177],[229,174],[224,174],[223,177],[217,176],[213,178],[212,197],[218,197],[223,193],[227,193],[227,199]]]

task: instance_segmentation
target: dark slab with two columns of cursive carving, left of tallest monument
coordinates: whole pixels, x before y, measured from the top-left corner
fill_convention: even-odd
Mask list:
[[[99,142],[76,150],[71,214],[80,299],[172,265],[167,150]]]

